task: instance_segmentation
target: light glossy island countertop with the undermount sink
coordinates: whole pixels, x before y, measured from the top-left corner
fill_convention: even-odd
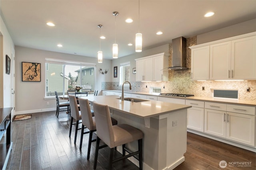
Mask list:
[[[117,99],[119,98],[117,95],[88,96],[81,98],[86,98],[90,102],[96,101],[97,103],[108,105],[110,109],[118,110],[140,118],[154,117],[191,107],[183,104],[172,104],[152,100],[146,102],[121,101],[120,99]]]

